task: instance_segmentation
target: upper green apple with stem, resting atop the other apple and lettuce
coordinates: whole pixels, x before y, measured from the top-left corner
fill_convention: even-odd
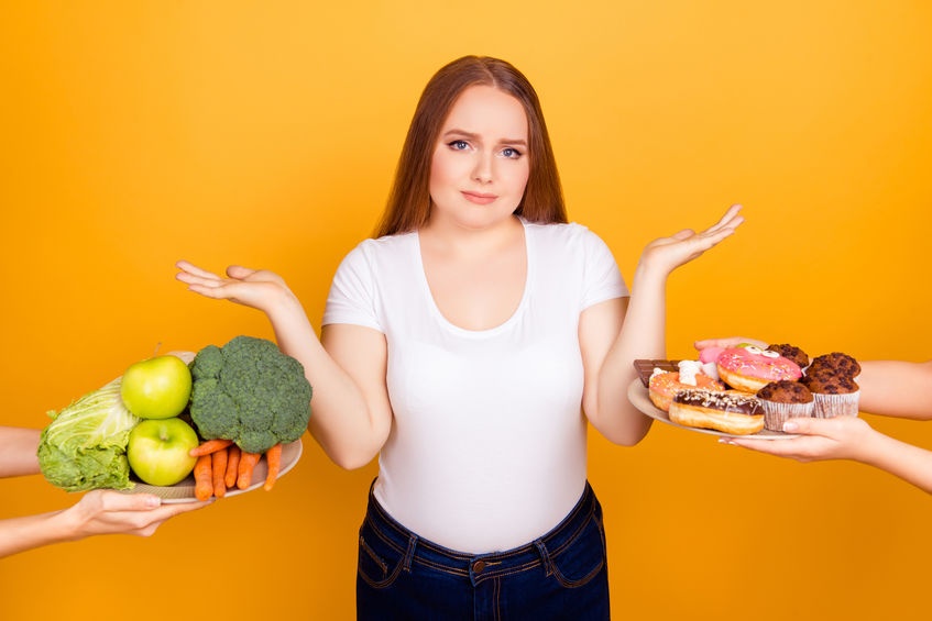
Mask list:
[[[123,404],[141,419],[171,419],[180,414],[191,396],[191,372],[174,355],[130,365],[123,374]]]

